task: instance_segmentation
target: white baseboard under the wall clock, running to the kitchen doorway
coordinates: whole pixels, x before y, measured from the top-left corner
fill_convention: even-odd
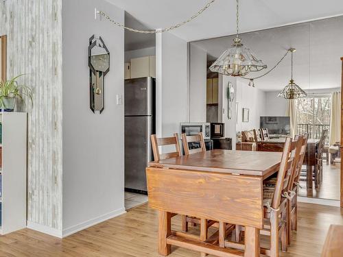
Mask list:
[[[98,223],[102,223],[104,221],[107,221],[108,219],[113,219],[119,215],[123,215],[124,213],[126,213],[125,208],[121,208],[119,210],[114,210],[113,212],[109,212],[105,215],[99,216],[95,219],[90,219],[90,220],[84,221],[78,225],[73,225],[72,227],[66,228],[65,230],[63,230],[62,237],[64,238],[66,236],[70,236],[71,234],[75,234],[76,232],[79,232],[81,230],[89,228],[93,225],[97,225]]]

